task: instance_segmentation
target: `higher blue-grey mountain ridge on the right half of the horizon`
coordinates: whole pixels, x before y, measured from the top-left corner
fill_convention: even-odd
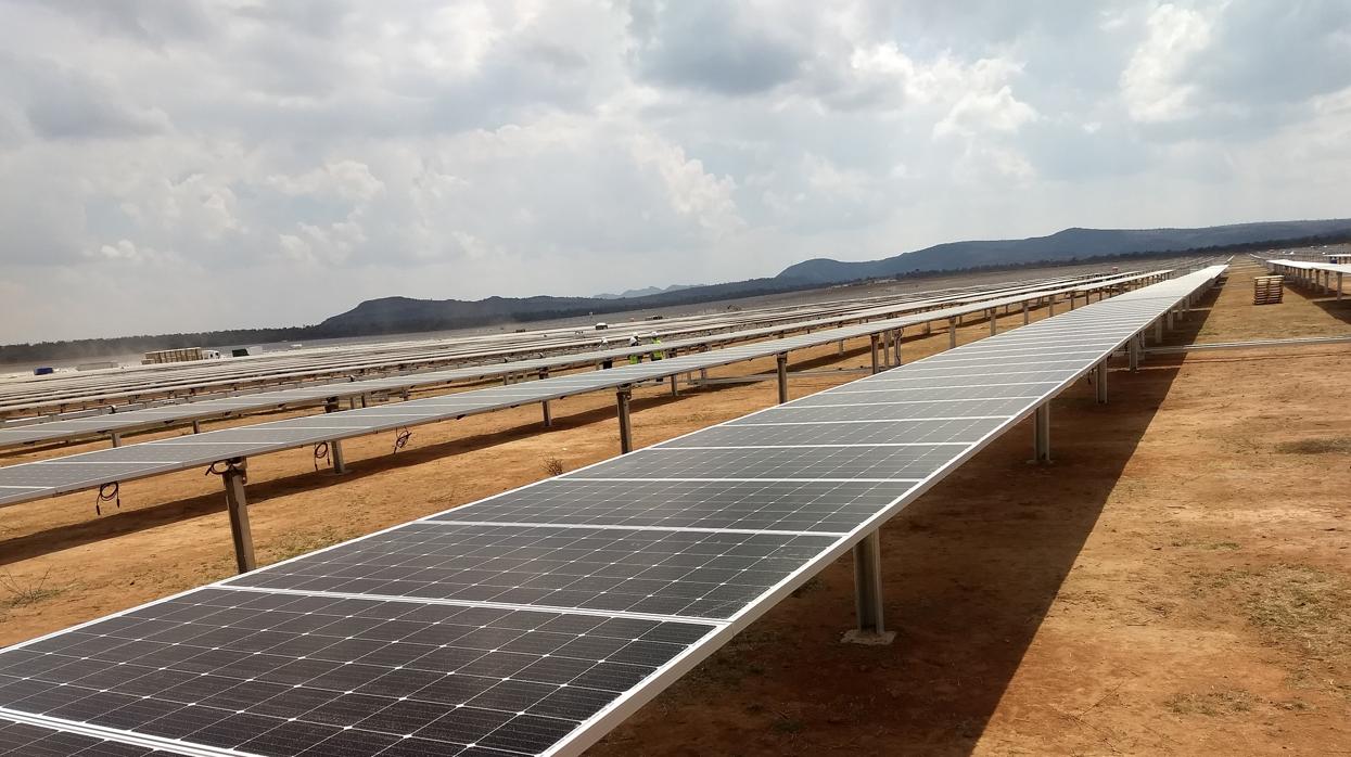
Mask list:
[[[915,271],[944,271],[1006,266],[1039,260],[1069,260],[1131,252],[1181,252],[1206,247],[1279,242],[1351,233],[1351,219],[1266,221],[1204,228],[1093,229],[1067,228],[1050,236],[1016,240],[947,242],[881,260],[816,258],[784,269],[793,281],[840,283],[892,278]]]

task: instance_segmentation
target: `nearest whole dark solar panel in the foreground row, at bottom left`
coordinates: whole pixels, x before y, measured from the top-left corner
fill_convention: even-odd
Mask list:
[[[0,654],[0,708],[246,754],[535,754],[715,627],[204,588]]]

